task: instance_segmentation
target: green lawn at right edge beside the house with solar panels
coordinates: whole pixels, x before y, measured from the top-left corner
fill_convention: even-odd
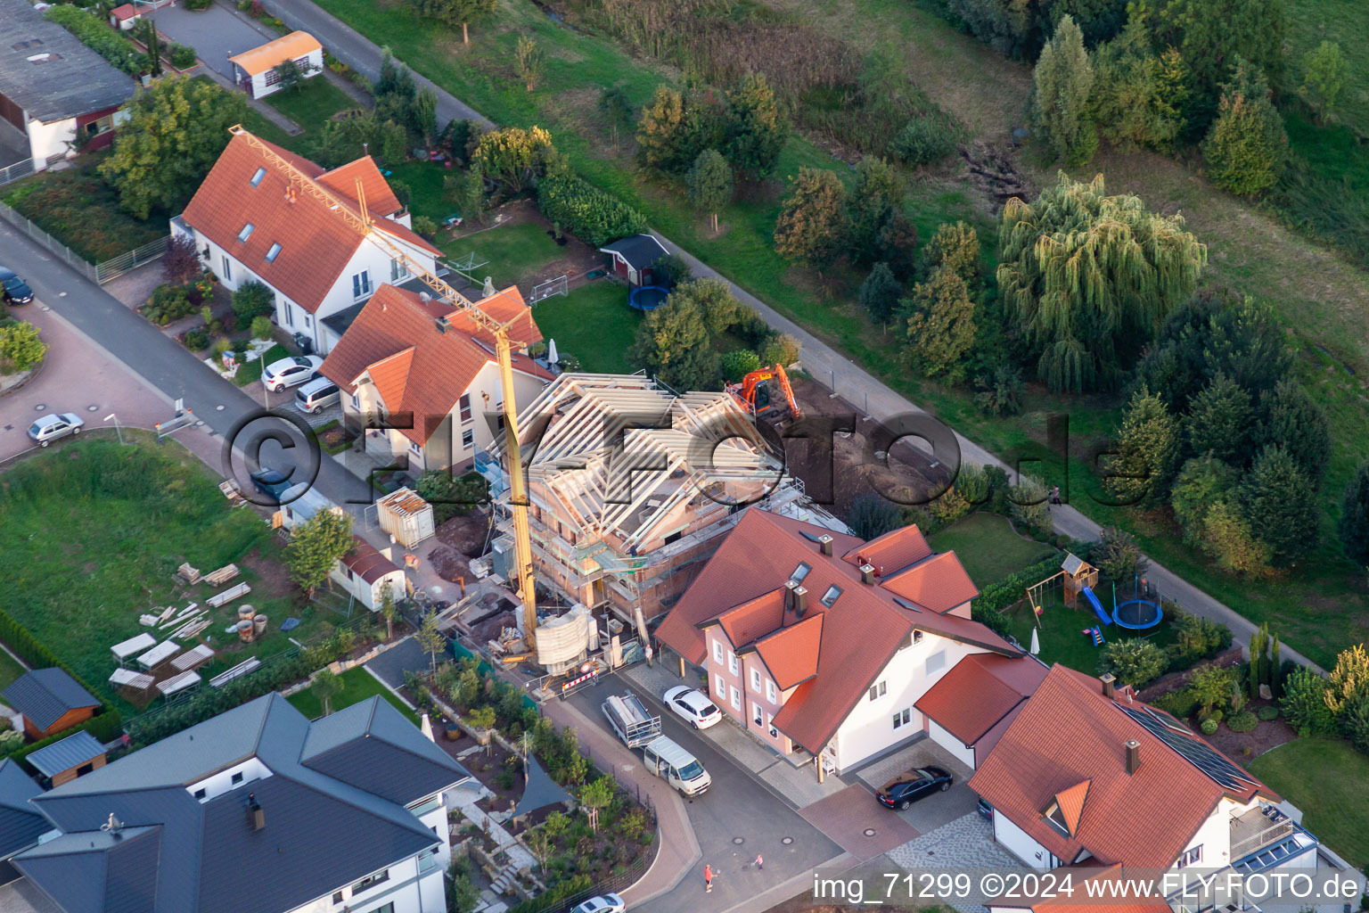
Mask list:
[[[1303,812],[1302,824],[1351,865],[1369,864],[1369,757],[1342,739],[1298,739],[1250,772]]]

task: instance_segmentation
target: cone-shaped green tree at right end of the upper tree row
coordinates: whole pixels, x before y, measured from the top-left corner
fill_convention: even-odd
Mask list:
[[[1288,134],[1264,77],[1246,63],[1239,63],[1232,81],[1223,86],[1202,155],[1212,182],[1236,196],[1257,196],[1283,175]]]

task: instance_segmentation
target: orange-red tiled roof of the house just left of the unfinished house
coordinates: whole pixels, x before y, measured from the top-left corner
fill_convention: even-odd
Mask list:
[[[490,303],[496,305],[489,308]],[[522,307],[527,318],[526,324],[520,322],[519,326],[526,326],[531,337],[526,341],[542,338],[516,287],[481,301],[479,307],[500,319],[508,319],[516,307]],[[472,337],[468,330],[474,326],[470,318],[453,316],[444,333],[433,318],[431,301],[424,303],[413,292],[382,285],[329,352],[319,371],[348,393],[355,393],[357,379],[370,372],[390,415],[412,416],[412,423],[405,422],[412,427],[398,430],[423,445],[481,370],[494,361],[493,338],[485,331]],[[489,348],[476,339],[483,339]],[[550,376],[527,356],[515,356],[513,370],[538,378]]]

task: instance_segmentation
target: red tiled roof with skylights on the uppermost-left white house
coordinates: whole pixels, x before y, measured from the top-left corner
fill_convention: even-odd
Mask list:
[[[324,182],[324,171],[318,164],[264,140],[259,141],[307,178]],[[252,177],[257,168],[266,168],[266,174],[253,188]],[[376,227],[434,256],[441,253],[412,230],[386,219],[385,216],[393,209],[381,212],[375,208],[375,201],[370,200],[370,185],[376,182],[385,185],[385,178],[375,170],[375,163],[370,157],[359,159],[329,174],[361,177]],[[237,257],[264,282],[314,313],[363,244],[363,238],[323,200],[294,192],[293,203],[287,201],[287,188],[286,177],[277,171],[246,137],[235,136],[229,140],[229,145],[186,205],[185,220]],[[355,203],[355,179],[350,189],[330,189]],[[381,197],[385,205],[390,205],[390,201],[398,203],[393,190],[389,192],[389,200],[379,189],[375,190],[375,196]],[[253,226],[252,233],[245,241],[238,241],[246,224]],[[268,263],[266,255],[274,244],[279,244],[281,250],[275,260]]]

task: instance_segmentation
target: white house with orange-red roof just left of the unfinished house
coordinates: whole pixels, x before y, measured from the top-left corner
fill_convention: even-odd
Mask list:
[[[542,338],[516,286],[478,303],[524,346]],[[465,313],[426,294],[383,285],[320,368],[342,389],[342,420],[368,453],[408,460],[411,475],[463,470],[501,433],[504,404],[494,339]],[[550,379],[524,352],[513,356],[515,402]]]

